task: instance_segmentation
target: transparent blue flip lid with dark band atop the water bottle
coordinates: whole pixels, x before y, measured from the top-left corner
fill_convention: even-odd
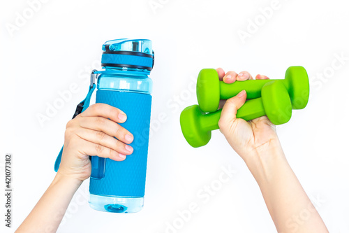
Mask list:
[[[154,66],[154,51],[147,39],[117,39],[102,47],[102,66],[140,69],[150,73]]]

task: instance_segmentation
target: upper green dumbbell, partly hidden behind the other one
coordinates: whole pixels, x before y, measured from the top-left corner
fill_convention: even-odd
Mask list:
[[[245,80],[228,84],[219,80],[215,69],[202,69],[196,85],[198,104],[203,112],[211,113],[218,109],[220,99],[234,97],[242,90],[246,90],[247,99],[260,97],[262,87],[271,81],[273,79]],[[309,78],[304,67],[290,66],[281,82],[290,94],[292,108],[305,108],[309,99]]]

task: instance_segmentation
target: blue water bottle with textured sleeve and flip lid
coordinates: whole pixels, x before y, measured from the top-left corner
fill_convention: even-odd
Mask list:
[[[120,124],[134,136],[133,153],[117,162],[91,156],[89,204],[98,211],[135,213],[142,209],[147,170],[152,81],[154,66],[151,41],[118,39],[103,44],[102,71],[91,73],[88,97],[77,106],[77,113],[89,106],[97,78],[96,103],[109,104],[124,111]],[[75,113],[75,115],[77,115]],[[60,162],[60,158],[57,158]],[[58,169],[59,162],[55,169]]]

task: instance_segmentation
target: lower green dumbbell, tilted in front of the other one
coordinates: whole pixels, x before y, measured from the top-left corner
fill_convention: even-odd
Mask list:
[[[252,120],[267,115],[274,125],[290,120],[292,104],[288,90],[280,80],[266,83],[261,97],[246,101],[237,111],[237,118]],[[181,131],[188,143],[197,148],[205,146],[211,139],[211,131],[219,129],[221,109],[214,113],[204,113],[198,105],[188,106],[181,112]]]

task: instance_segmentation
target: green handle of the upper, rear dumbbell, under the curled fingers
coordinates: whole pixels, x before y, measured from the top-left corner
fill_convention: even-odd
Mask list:
[[[260,97],[262,87],[275,79],[257,79],[236,81],[235,83],[224,83],[219,81],[219,90],[221,99],[229,99],[235,97],[242,90],[246,90],[247,99],[255,99]]]

